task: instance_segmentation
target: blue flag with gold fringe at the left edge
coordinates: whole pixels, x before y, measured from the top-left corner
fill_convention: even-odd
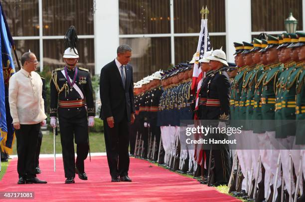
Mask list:
[[[8,85],[9,78],[15,72],[11,48],[13,40],[8,29],[2,4],[0,2],[0,145],[2,152],[11,154],[14,142],[12,118],[9,112]]]

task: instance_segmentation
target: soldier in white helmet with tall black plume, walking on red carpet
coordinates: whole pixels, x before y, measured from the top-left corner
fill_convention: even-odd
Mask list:
[[[81,180],[87,180],[84,160],[88,156],[88,126],[94,125],[94,103],[90,73],[88,69],[77,67],[77,35],[70,26],[65,35],[68,47],[63,55],[66,66],[52,72],[50,82],[51,126],[56,127],[58,115],[60,140],[64,163],[65,183],[74,183],[75,173]],[[89,124],[87,117],[89,118]],[[75,162],[75,138],[77,158]]]

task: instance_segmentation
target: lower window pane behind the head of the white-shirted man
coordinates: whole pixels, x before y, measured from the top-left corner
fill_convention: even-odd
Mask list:
[[[29,50],[36,55],[38,61],[40,60],[39,40],[14,40],[14,43],[20,65],[21,65],[21,55],[25,52],[28,52]],[[15,69],[18,70],[16,57],[13,52],[12,52],[12,56],[15,64]],[[40,66],[40,63],[38,63],[38,66]]]

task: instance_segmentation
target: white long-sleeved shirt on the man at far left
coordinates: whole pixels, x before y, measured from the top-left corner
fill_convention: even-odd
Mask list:
[[[47,116],[44,113],[42,80],[36,72],[23,68],[9,79],[8,101],[13,123],[37,124]]]

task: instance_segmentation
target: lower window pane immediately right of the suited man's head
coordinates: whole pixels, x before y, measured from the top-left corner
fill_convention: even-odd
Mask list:
[[[122,43],[129,44],[133,49],[130,64],[133,65],[135,81],[170,66],[169,37],[121,38]]]

